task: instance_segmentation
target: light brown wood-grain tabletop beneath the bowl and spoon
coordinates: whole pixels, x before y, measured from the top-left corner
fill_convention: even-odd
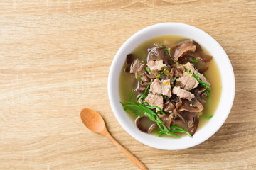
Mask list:
[[[256,169],[256,1],[1,1],[0,169],[137,169],[107,137],[87,130],[93,108],[149,169]],[[235,101],[201,145],[143,145],[114,118],[112,59],[138,30],[188,23],[217,40],[235,72]]]

